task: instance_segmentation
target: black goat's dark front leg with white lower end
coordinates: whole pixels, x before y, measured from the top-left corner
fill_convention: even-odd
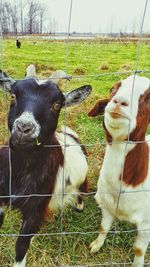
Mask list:
[[[14,267],[25,267],[26,253],[30,246],[31,238],[36,234],[44,222],[43,214],[36,212],[23,220],[20,236],[16,242],[16,261]]]

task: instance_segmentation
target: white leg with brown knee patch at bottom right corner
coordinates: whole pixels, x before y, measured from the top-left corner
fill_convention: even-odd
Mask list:
[[[146,231],[149,229],[149,225],[140,224],[138,225],[138,235],[133,245],[134,250],[134,261],[132,267],[143,267],[144,266],[144,256],[150,242],[150,231]],[[143,230],[143,231],[142,231]]]

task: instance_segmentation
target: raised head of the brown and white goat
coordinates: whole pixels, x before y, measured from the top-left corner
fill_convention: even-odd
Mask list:
[[[110,97],[99,100],[89,116],[97,116],[104,110],[108,141],[144,140],[150,120],[150,80],[131,75],[115,84]]]

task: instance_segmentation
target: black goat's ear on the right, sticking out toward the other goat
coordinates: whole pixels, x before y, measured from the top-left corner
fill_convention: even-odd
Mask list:
[[[77,88],[67,94],[65,94],[65,101],[63,106],[73,106],[81,103],[85,98],[87,98],[92,92],[91,85],[84,85]]]

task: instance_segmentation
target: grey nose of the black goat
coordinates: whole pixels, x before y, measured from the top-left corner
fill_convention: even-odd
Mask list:
[[[22,137],[31,136],[35,131],[35,126],[31,122],[23,123],[21,121],[16,122],[16,133]]]

